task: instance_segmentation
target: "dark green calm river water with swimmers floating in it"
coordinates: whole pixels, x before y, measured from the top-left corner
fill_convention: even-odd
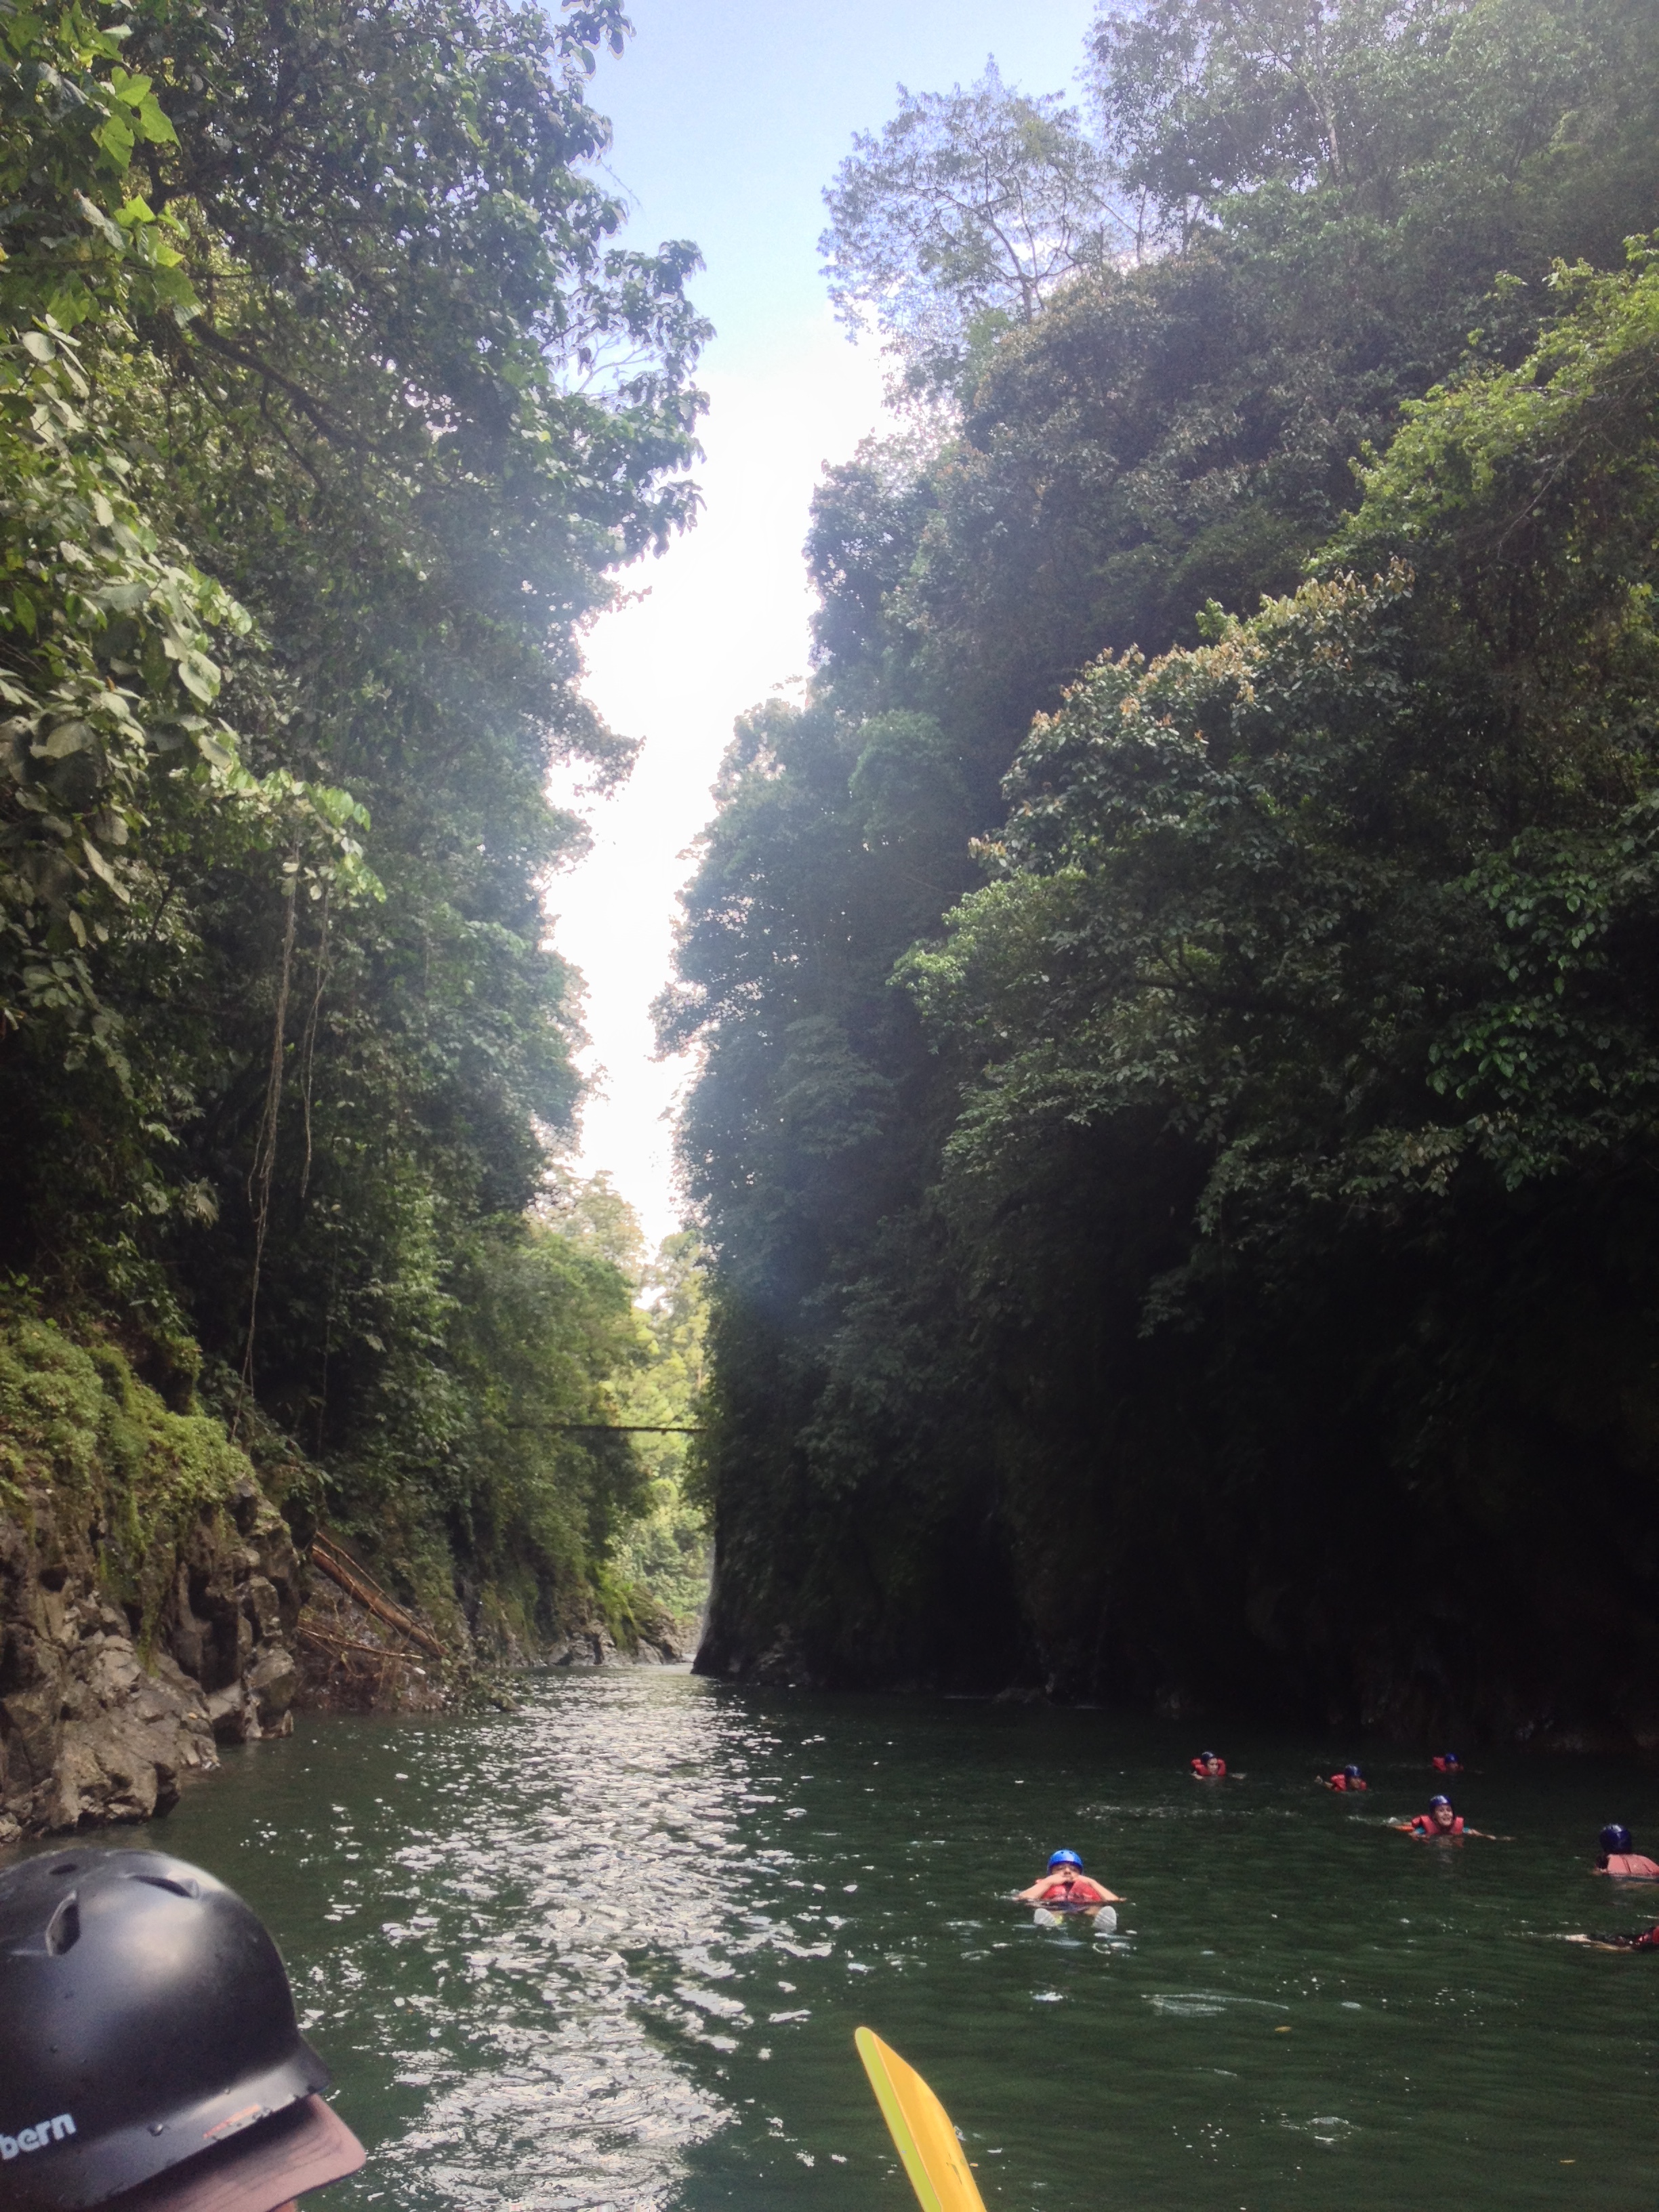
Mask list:
[[[1659,2190],[1659,1918],[1593,1878],[1659,1772],[1489,1756],[1513,1843],[1389,1834],[1427,1752],[1312,1785],[1338,1741],[1102,1712],[535,1688],[489,1721],[310,1721],[133,1840],[268,1918],[367,2172],[319,2212],[902,2212],[854,2057],[869,2022],[967,2135],[991,2212],[1458,2212]],[[126,1840],[126,1838],[122,1838]],[[1117,1949],[1006,1902],[1073,1845]]]

